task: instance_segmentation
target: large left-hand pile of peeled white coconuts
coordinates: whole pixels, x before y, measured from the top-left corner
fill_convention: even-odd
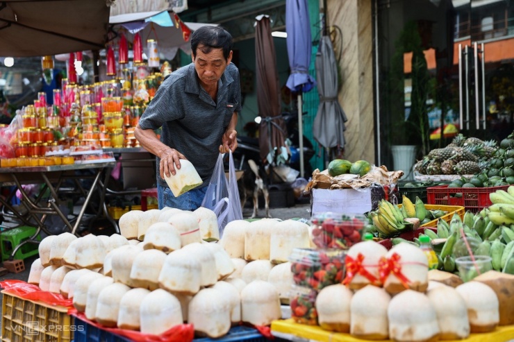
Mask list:
[[[240,322],[270,325],[288,300],[292,248],[310,247],[298,221],[232,221],[219,240],[214,212],[132,210],[121,234],[44,238],[28,282],[72,298],[106,327],[161,334],[190,323],[216,338]],[[273,261],[273,263],[271,262]]]

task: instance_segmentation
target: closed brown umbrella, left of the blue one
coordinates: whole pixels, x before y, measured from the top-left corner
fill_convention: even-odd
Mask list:
[[[270,18],[258,16],[256,19],[257,107],[261,117],[259,147],[260,157],[264,160],[274,148],[285,146],[287,129],[281,117],[279,74],[276,71]]]

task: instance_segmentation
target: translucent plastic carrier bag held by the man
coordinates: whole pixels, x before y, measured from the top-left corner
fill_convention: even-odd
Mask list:
[[[227,223],[234,220],[242,220],[238,180],[235,177],[232,152],[229,152],[229,180],[226,180],[223,155],[219,153],[213,176],[210,178],[201,206],[215,212],[220,238],[223,236],[223,230]]]

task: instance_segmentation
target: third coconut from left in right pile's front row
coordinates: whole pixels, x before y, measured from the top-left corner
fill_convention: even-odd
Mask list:
[[[438,340],[436,309],[423,293],[409,289],[394,296],[389,302],[388,320],[390,339],[399,342]]]

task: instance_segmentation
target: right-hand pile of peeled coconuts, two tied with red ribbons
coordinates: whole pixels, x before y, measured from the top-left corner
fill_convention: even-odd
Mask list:
[[[426,256],[410,243],[386,250],[374,241],[352,246],[346,266],[343,284],[317,294],[325,330],[421,342],[465,339],[514,324],[513,275],[489,271],[463,283],[457,275],[428,271]]]

